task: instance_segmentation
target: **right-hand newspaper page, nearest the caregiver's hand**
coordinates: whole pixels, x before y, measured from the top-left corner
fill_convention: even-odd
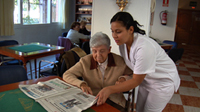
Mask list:
[[[42,98],[38,102],[48,112],[81,112],[96,103],[94,96],[81,90],[73,90],[59,96]]]

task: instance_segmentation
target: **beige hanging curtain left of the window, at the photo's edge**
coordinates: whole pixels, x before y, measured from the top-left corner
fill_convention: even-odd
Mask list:
[[[0,36],[14,35],[14,0],[0,0]]]

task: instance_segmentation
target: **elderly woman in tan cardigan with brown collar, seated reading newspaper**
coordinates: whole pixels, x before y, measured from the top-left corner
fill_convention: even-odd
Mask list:
[[[66,82],[81,88],[86,93],[97,95],[102,88],[115,85],[118,79],[127,79],[129,77],[127,75],[133,73],[121,56],[110,52],[110,39],[106,34],[96,33],[90,39],[90,48],[92,54],[82,57],[76,65],[63,74]],[[78,77],[84,80],[79,80]],[[111,94],[110,100],[125,107],[126,100],[123,93]]]

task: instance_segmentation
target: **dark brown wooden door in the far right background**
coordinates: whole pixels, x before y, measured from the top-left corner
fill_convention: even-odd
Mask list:
[[[200,45],[200,11],[178,10],[175,41],[178,45]]]

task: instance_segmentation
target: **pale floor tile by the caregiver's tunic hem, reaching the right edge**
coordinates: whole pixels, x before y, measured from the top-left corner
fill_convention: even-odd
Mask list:
[[[198,88],[179,87],[179,94],[200,97],[200,90]]]

